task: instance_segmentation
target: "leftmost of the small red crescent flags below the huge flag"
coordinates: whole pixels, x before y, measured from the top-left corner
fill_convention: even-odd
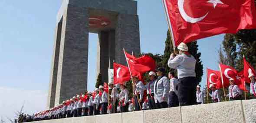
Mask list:
[[[207,68],[207,88],[213,84],[217,89],[222,88],[220,71]]]

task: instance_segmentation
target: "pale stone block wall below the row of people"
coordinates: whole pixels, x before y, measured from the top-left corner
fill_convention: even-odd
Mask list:
[[[35,123],[256,123],[256,99]]]

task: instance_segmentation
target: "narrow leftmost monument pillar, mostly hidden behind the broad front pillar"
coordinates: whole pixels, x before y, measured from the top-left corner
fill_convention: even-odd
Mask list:
[[[53,46],[53,58],[52,58],[52,66],[50,73],[50,82],[49,82],[49,90],[48,90],[48,100],[47,100],[47,108],[54,107],[55,103],[55,94],[56,94],[56,82],[57,82],[57,73],[58,73],[58,65],[59,65],[59,45],[61,38],[62,30],[62,20],[58,23],[55,29],[54,36],[54,46]]]

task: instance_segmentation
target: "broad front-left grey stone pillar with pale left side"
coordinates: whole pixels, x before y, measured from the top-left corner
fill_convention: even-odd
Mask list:
[[[63,13],[55,105],[87,89],[88,9],[69,4]]]

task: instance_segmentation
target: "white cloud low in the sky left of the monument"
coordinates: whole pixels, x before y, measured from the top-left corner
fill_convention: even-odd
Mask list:
[[[24,104],[26,114],[46,109],[47,91],[23,90],[20,88],[0,87],[0,117],[14,118],[14,111],[20,110]]]

